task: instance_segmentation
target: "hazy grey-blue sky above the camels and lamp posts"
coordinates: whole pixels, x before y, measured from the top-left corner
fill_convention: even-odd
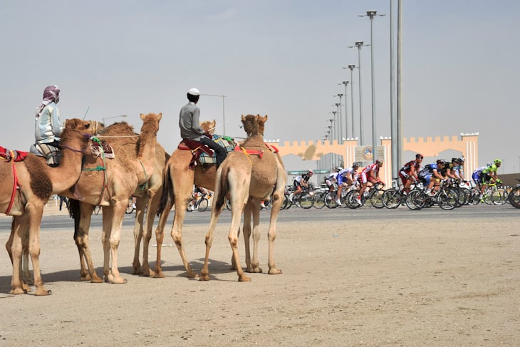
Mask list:
[[[478,132],[480,165],[500,157],[503,172],[519,172],[520,2],[403,3],[403,135]],[[2,0],[0,145],[28,150],[36,106],[53,84],[63,120],[88,109],[88,119],[127,120],[139,131],[140,113],[162,112],[157,138],[168,152],[192,87],[227,95],[227,135],[244,136],[240,115],[259,113],[269,115],[266,139],[321,140],[338,102],[332,95],[350,81],[342,67],[358,65],[348,46],[370,41],[370,20],[357,15],[372,9],[387,14],[373,22],[377,129],[387,137],[390,0]],[[370,47],[361,66],[371,145]],[[358,115],[357,71],[354,83]],[[222,133],[222,98],[202,96],[198,105]],[[348,105],[350,113],[350,96]]]

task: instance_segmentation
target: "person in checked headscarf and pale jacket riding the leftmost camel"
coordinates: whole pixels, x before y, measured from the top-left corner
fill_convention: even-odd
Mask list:
[[[36,124],[34,137],[36,143],[34,147],[47,158],[47,164],[51,166],[59,165],[60,136],[63,125],[60,120],[60,112],[56,104],[60,100],[60,89],[57,86],[48,86],[43,90],[43,101],[36,108]],[[31,152],[33,148],[31,147]]]

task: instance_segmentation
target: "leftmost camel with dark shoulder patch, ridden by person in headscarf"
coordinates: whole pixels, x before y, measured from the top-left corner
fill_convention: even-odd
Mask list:
[[[39,264],[43,207],[51,195],[68,190],[78,181],[91,128],[90,122],[80,119],[66,120],[61,134],[63,158],[58,167],[49,167],[44,158],[32,153],[28,153],[26,159],[20,162],[0,162],[0,177],[4,182],[0,186],[0,211],[14,216],[11,235],[6,243],[13,264],[11,294],[25,294],[28,291],[21,276],[24,248],[31,255],[35,294],[51,294],[43,286]]]

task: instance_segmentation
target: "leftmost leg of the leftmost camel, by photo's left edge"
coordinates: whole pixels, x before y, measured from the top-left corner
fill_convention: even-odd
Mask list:
[[[21,280],[21,256],[22,256],[22,235],[21,233],[21,219],[25,216],[13,217],[13,223],[11,224],[11,235],[6,243],[6,249],[11,258],[11,264],[13,266],[13,276],[11,277],[11,291],[10,294],[19,295],[26,294],[24,290],[23,282]]]

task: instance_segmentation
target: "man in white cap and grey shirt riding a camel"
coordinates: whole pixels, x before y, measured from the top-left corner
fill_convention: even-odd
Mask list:
[[[226,159],[227,152],[224,147],[215,143],[211,135],[204,133],[204,130],[201,128],[199,123],[200,109],[197,107],[199,96],[200,92],[197,88],[188,90],[187,97],[189,103],[181,108],[179,114],[180,136],[182,139],[197,141],[214,150],[217,157],[218,168],[224,159]]]

